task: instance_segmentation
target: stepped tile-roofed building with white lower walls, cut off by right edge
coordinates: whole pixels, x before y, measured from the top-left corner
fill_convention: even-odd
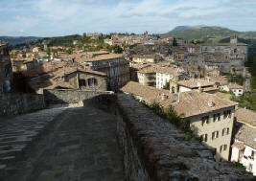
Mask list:
[[[231,161],[243,164],[247,171],[256,176],[256,113],[238,108],[235,116],[235,141]]]

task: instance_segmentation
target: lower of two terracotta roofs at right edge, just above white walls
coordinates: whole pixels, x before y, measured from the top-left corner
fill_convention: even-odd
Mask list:
[[[256,141],[254,141],[254,139],[256,139],[255,128],[243,124],[236,133],[235,138],[244,142],[246,146],[256,148]]]

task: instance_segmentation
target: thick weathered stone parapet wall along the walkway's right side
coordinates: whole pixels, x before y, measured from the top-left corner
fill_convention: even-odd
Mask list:
[[[215,162],[213,153],[125,94],[101,95],[85,105],[117,115],[117,139],[128,181],[252,180],[230,162]]]

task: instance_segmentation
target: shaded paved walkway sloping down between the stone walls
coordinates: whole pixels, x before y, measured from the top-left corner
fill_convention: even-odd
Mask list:
[[[2,163],[5,166],[2,166],[2,170],[0,169],[0,180],[122,181],[121,160],[115,137],[115,117],[92,107],[56,110],[59,112],[55,114],[55,119],[36,139],[28,141],[32,144],[27,143],[29,146],[22,151],[22,155],[12,158],[10,162]],[[60,112],[62,113],[59,114]],[[31,118],[31,116],[25,117]],[[16,117],[17,120],[12,121],[13,124],[18,123],[21,118]],[[38,116],[34,122],[45,120],[48,123],[46,120],[51,118],[50,115],[47,119],[40,119]],[[4,122],[1,126],[8,125]],[[23,126],[28,126],[28,131],[32,129],[32,124]],[[37,123],[35,130],[37,130],[36,127],[40,129],[43,126],[44,124]],[[13,131],[18,132],[18,127]],[[2,132],[0,134],[2,135]],[[5,134],[9,132],[6,131]],[[6,136],[2,138],[7,139]],[[12,142],[12,140],[6,140],[6,142]],[[3,147],[2,142],[0,147]],[[9,155],[1,156],[0,154],[0,159],[6,156]]]

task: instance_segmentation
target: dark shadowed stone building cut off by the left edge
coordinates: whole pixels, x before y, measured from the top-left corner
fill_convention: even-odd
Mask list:
[[[12,87],[12,63],[8,44],[0,41],[0,93],[10,92]]]

